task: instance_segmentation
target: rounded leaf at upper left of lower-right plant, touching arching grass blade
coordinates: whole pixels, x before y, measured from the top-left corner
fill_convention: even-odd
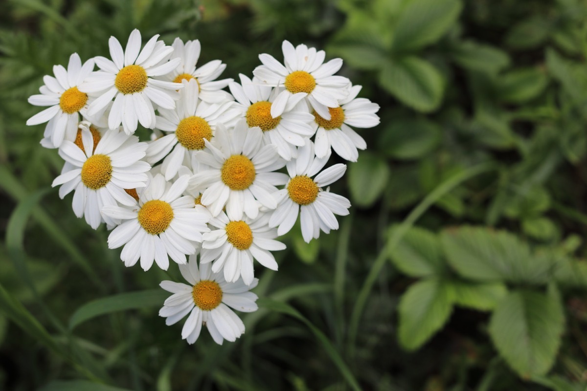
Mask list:
[[[393,235],[397,227],[390,230]],[[430,277],[444,273],[446,263],[438,236],[429,230],[411,227],[402,241],[389,251],[393,264],[410,277]]]

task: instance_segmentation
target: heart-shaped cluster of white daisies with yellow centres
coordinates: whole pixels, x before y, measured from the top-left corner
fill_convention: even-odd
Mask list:
[[[168,325],[188,315],[181,336],[193,344],[202,325],[218,344],[244,333],[231,310],[257,310],[250,292],[254,260],[272,270],[276,240],[294,227],[303,239],[338,229],[350,202],[328,185],[345,164],[325,168],[332,150],[356,161],[366,144],[352,127],[379,123],[377,104],[360,86],[334,76],[341,59],[284,41],[284,63],[259,55],[252,79],[221,79],[226,64],[197,66],[198,40],[158,35],[144,46],[138,30],[126,49],[111,37],[110,59],[53,67],[41,94],[49,106],[28,125],[46,123],[41,145],[65,160],[59,196],[73,192],[73,212],[112,230],[125,266],[167,270],[178,264],[187,284],[163,281],[172,295],[159,311]],[[97,69],[96,69],[97,67]],[[138,125],[149,141],[134,135]]]

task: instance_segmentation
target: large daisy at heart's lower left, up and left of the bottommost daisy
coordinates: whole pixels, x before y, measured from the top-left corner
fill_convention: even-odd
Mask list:
[[[181,176],[173,185],[166,186],[163,175],[157,174],[133,208],[102,208],[104,216],[126,220],[108,236],[109,249],[124,245],[120,253],[124,266],[133,266],[140,258],[144,270],[153,266],[153,260],[167,270],[167,256],[185,264],[185,255],[195,253],[193,242],[201,242],[202,233],[210,231],[206,226],[210,213],[200,205],[194,208],[193,197],[181,196],[188,178]]]

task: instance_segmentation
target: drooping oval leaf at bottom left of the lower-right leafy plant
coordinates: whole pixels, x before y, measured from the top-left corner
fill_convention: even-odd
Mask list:
[[[422,280],[410,285],[399,303],[400,344],[409,351],[422,346],[448,320],[453,310],[450,285]]]

